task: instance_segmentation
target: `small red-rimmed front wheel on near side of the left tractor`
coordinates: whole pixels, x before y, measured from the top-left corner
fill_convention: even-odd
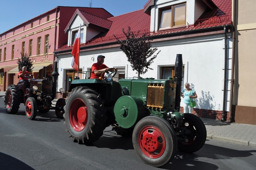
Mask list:
[[[36,113],[37,113],[37,104],[36,104],[35,98],[29,97],[26,100],[25,113],[26,113],[26,117],[29,120],[34,120],[35,119]]]

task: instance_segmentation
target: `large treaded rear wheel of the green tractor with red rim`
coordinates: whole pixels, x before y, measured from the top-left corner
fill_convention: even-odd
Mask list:
[[[74,142],[91,144],[102,136],[107,120],[103,104],[100,95],[89,87],[79,86],[72,89],[66,99],[63,117],[64,125],[67,126],[66,131],[70,133]],[[78,118],[78,113],[83,115]]]

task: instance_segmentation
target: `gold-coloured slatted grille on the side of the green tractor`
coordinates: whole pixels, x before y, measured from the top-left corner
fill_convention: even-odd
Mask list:
[[[147,106],[163,108],[163,84],[153,84],[153,86],[148,86]]]

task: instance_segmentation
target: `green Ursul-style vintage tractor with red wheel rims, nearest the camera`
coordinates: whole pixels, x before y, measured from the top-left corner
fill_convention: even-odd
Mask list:
[[[176,57],[174,80],[139,77],[115,82],[115,74],[116,70],[104,78],[72,81],[63,117],[74,142],[91,144],[112,126],[120,135],[131,134],[139,158],[155,167],[168,164],[177,149],[192,153],[203,147],[202,120],[179,112],[181,54]]]

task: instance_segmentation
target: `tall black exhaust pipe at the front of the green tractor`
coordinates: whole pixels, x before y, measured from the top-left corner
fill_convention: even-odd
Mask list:
[[[177,54],[175,61],[175,75],[174,81],[176,82],[176,96],[175,96],[175,110],[180,111],[181,106],[181,81],[182,81],[182,54]]]

